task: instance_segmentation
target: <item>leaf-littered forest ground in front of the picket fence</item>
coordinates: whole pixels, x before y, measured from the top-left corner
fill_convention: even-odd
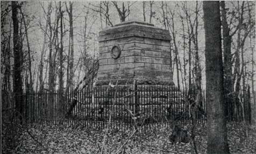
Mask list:
[[[172,129],[168,126],[135,133],[132,129],[106,130],[34,125],[23,131],[11,153],[101,153],[104,136],[103,153],[195,153],[191,141],[172,144],[169,141]],[[227,130],[231,153],[256,153],[255,126],[232,122]],[[196,145],[198,153],[207,152],[205,125],[196,128]]]

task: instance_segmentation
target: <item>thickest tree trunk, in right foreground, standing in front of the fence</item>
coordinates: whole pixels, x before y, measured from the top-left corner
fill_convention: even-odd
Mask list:
[[[218,1],[203,1],[207,102],[207,153],[230,153],[224,111],[221,14]]]

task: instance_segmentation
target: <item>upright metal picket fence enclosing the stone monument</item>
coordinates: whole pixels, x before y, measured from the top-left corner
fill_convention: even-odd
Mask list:
[[[25,93],[24,117],[27,122],[48,125],[81,125],[84,127],[130,127],[162,122],[190,122],[196,91],[177,90],[172,86],[88,86],[80,91]],[[71,114],[67,114],[72,103]],[[227,97],[227,120],[250,120],[250,95]],[[206,122],[205,91],[197,105],[197,122]],[[74,104],[73,104],[74,105]],[[111,118],[110,118],[111,117]]]

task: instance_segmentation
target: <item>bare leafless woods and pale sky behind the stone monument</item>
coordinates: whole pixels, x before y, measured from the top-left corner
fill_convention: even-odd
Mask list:
[[[225,93],[239,95],[250,88],[255,110],[255,2],[222,1],[221,18]],[[178,88],[204,89],[202,2],[5,1],[1,2],[1,91],[7,97],[2,99],[2,110],[15,107],[13,94],[73,90],[97,66],[98,32],[133,19],[169,30],[170,68]]]

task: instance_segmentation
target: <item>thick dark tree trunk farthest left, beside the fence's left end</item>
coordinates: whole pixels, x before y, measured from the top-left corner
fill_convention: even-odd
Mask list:
[[[18,21],[18,4],[15,1],[11,2],[12,7],[12,24],[13,24],[13,94],[15,95],[15,109],[23,115],[23,99],[22,97],[22,51],[19,42],[19,21]],[[22,120],[20,118],[20,120]],[[22,122],[22,121],[20,121]]]

